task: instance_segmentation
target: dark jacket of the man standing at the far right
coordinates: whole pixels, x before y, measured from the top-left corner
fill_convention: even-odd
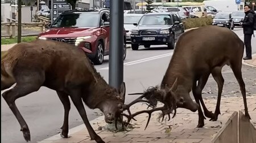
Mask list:
[[[242,21],[243,34],[253,34],[253,16],[254,11],[249,10],[245,12],[245,18]]]

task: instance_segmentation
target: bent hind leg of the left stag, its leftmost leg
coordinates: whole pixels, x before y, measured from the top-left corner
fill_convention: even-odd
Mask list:
[[[3,98],[5,99],[6,103],[9,105],[11,111],[15,115],[16,119],[20,124],[20,131],[23,132],[23,136],[26,141],[30,141],[30,129],[28,128],[27,123],[23,119],[23,116],[20,114],[18,108],[15,105],[15,100],[19,97],[26,96],[29,93],[35,92],[40,88],[40,86],[31,84],[19,83],[13,89],[7,90],[2,94]]]

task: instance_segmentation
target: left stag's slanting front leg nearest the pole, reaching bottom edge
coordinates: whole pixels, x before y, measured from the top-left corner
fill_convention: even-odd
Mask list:
[[[97,143],[104,143],[104,141],[101,139],[100,136],[96,134],[96,132],[93,130],[92,126],[89,123],[89,120],[86,115],[86,111],[84,109],[84,105],[82,104],[82,98],[80,94],[71,94],[71,99],[76,106],[76,109],[79,111],[79,114],[84,121],[84,124],[86,128],[88,129],[90,139],[95,140]]]

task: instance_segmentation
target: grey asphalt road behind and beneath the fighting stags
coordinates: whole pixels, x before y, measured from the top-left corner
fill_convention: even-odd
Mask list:
[[[241,28],[235,28],[234,32],[243,40]],[[253,53],[256,53],[256,38],[252,39]],[[140,47],[138,51],[127,49],[127,57],[124,61],[124,81],[127,93],[142,92],[148,86],[160,84],[163,75],[170,62],[173,50],[166,50],[166,46],[154,46],[154,48],[144,49]],[[108,56],[102,65],[96,66],[98,72],[108,82]],[[256,93],[256,69],[248,66],[242,67],[243,78],[245,79],[247,93]],[[229,67],[222,70],[225,85],[224,96],[241,96],[239,86]],[[212,78],[209,79],[204,89],[204,98],[214,98],[217,94],[217,84]],[[209,93],[208,93],[209,92]],[[130,102],[136,96],[126,96],[126,102]],[[31,142],[41,141],[49,136],[56,135],[61,131],[63,124],[64,109],[55,91],[42,87],[38,92],[31,93],[26,97],[16,100],[19,111],[26,120],[31,132]],[[71,103],[69,114],[69,128],[82,124],[75,106]],[[94,112],[86,107],[89,120],[97,118]],[[23,143],[26,142],[20,132],[20,125],[13,112],[7,106],[1,96],[1,142]]]

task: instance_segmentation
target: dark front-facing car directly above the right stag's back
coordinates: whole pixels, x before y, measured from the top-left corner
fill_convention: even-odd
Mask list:
[[[212,25],[227,27],[232,30],[234,29],[234,21],[229,12],[218,12],[212,21]]]

